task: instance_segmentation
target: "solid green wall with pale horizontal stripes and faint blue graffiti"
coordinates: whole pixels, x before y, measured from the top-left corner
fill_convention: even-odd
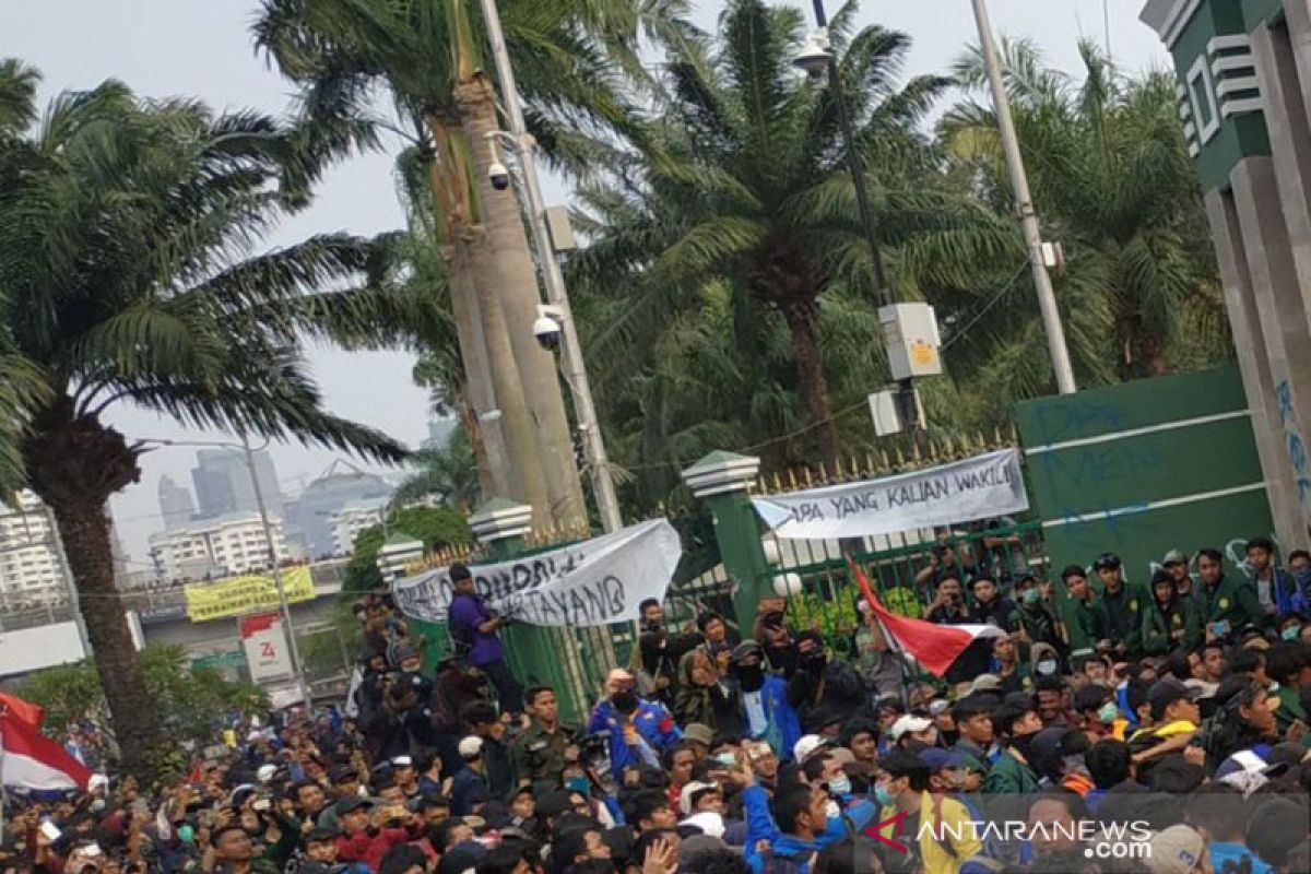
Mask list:
[[[1264,485],[1252,489],[1264,481],[1251,423],[1232,415],[1245,409],[1235,366],[1020,404],[1029,495],[1053,577],[1114,552],[1131,582],[1146,582],[1169,549],[1228,552],[1269,535]]]

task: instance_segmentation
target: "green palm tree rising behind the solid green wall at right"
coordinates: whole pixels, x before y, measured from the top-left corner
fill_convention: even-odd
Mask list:
[[[1201,193],[1184,140],[1173,77],[1122,76],[1091,43],[1084,77],[1045,68],[1025,42],[1003,46],[1011,96],[1044,236],[1065,249],[1057,295],[1083,384],[1160,375],[1230,356],[1223,301]],[[983,89],[977,51],[956,72]],[[954,172],[999,215],[1011,210],[1009,181],[991,104],[969,100],[939,124]],[[964,296],[944,292],[940,311],[973,326],[953,349],[960,372],[995,415],[1047,390],[1050,367],[1032,286],[1009,266],[966,254]],[[966,286],[957,286],[965,290]],[[987,313],[990,300],[1002,305]],[[978,318],[975,318],[978,316]],[[966,364],[968,363],[968,364]]]

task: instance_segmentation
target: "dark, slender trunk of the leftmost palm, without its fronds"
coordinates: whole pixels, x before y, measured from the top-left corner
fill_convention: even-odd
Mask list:
[[[140,480],[136,453],[94,417],[75,417],[72,401],[62,398],[33,422],[24,456],[33,489],[59,525],[122,769],[152,781],[163,764],[163,732],[114,584],[105,510],[109,495]]]

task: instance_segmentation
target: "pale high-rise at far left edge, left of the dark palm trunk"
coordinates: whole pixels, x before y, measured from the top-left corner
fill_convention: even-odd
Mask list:
[[[37,609],[68,600],[69,582],[46,504],[20,491],[17,507],[0,503],[0,611]]]

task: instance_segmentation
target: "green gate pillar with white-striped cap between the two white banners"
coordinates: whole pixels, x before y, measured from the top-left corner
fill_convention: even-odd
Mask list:
[[[683,470],[683,482],[714,516],[714,539],[724,569],[734,583],[733,608],[742,637],[751,634],[756,604],[773,594],[770,563],[760,542],[760,520],[747,497],[759,472],[760,459],[733,452],[711,452]]]

